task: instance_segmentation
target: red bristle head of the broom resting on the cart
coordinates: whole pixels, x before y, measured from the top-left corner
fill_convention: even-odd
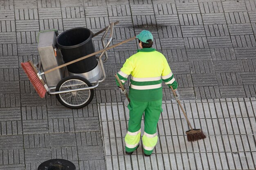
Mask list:
[[[27,77],[29,78],[31,84],[34,86],[38,95],[41,98],[45,97],[45,93],[46,93],[45,86],[43,82],[40,80],[40,78],[38,77],[36,69],[33,67],[31,62],[22,62],[21,66],[25,71],[25,73],[27,74]]]

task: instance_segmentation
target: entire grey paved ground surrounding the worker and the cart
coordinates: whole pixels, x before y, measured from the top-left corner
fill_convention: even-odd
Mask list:
[[[20,62],[38,64],[39,31],[96,33],[116,20],[112,44],[153,33],[206,140],[186,142],[186,122],[163,85],[156,154],[124,155],[128,115],[114,74],[137,52],[135,40],[108,52],[107,78],[87,107],[38,96]],[[255,35],[256,0],[0,0],[0,170],[36,170],[56,158],[79,170],[256,169]],[[102,49],[100,37],[92,40]]]

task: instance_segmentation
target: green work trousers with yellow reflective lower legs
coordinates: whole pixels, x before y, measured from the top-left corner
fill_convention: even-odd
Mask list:
[[[137,149],[141,136],[141,118],[144,115],[144,135],[142,137],[144,153],[150,155],[157,144],[157,122],[162,112],[162,99],[150,102],[130,100],[128,104],[129,123],[125,137],[126,151],[132,152]]]

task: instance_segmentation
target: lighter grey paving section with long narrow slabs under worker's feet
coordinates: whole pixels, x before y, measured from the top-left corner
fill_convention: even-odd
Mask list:
[[[163,101],[159,141],[151,157],[144,157],[141,145],[132,156],[125,154],[128,108],[122,103],[98,104],[107,170],[256,169],[255,97],[184,100],[182,105],[192,126],[201,127],[207,138],[188,142],[182,110],[176,102]],[[142,121],[141,137],[143,132]]]

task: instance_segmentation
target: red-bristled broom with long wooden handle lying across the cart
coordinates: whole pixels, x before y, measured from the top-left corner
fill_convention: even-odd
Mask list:
[[[114,48],[114,47],[116,47],[116,46],[119,46],[119,45],[121,45],[121,44],[124,44],[124,43],[126,43],[126,42],[129,42],[129,41],[131,41],[131,40],[133,40],[133,39],[135,39],[135,38],[136,38],[136,37],[133,37],[133,38],[124,40],[124,41],[119,42],[119,43],[117,43],[117,44],[115,44],[115,45],[109,46],[109,47],[106,48],[106,49],[102,49],[102,50],[100,50],[100,51],[96,51],[96,52],[91,53],[91,54],[89,54],[89,55],[85,55],[85,56],[80,57],[80,58],[78,58],[78,59],[76,59],[76,60],[73,60],[73,61],[71,61],[71,62],[67,62],[67,63],[62,64],[62,65],[60,65],[60,66],[51,68],[51,69],[49,69],[49,70],[47,70],[47,71],[45,71],[45,72],[43,72],[43,73],[40,73],[40,74],[38,73],[38,71],[36,70],[34,64],[33,64],[31,61],[22,62],[22,63],[21,63],[21,66],[22,66],[23,70],[25,71],[25,73],[27,74],[27,77],[29,77],[29,80],[30,80],[30,82],[33,84],[33,86],[34,86],[34,88],[36,89],[36,92],[38,93],[38,95],[39,95],[41,98],[43,98],[43,97],[45,97],[46,91],[49,91],[49,88],[47,87],[47,84],[45,84],[45,82],[43,81],[41,75],[46,74],[46,73],[49,73],[49,72],[51,72],[51,71],[54,71],[54,70],[56,70],[56,69],[58,69],[58,68],[62,68],[62,67],[65,67],[65,66],[67,66],[67,65],[73,64],[73,63],[75,63],[75,62],[79,62],[79,61],[81,61],[81,60],[84,60],[85,58],[91,57],[92,55],[96,55],[96,54],[101,53],[101,52],[106,52],[106,51],[108,51],[109,49],[112,49],[112,48]]]

